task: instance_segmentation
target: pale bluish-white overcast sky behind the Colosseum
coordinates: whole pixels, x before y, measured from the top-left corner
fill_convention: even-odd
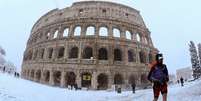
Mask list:
[[[6,58],[21,68],[23,52],[34,23],[48,11],[79,0],[0,0],[0,46]],[[109,0],[111,1],[111,0]],[[154,46],[171,73],[191,66],[188,42],[201,42],[200,0],[115,0],[140,11]]]

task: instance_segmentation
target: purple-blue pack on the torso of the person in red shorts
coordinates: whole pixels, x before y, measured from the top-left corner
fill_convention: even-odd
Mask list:
[[[155,66],[153,72],[151,73],[151,80],[163,83],[166,79],[164,69],[165,69],[164,65],[163,67]]]

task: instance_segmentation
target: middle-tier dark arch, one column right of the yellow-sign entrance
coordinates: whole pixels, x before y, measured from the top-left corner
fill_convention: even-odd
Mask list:
[[[98,59],[99,60],[107,60],[108,56],[107,56],[107,49],[105,48],[101,48],[98,51]]]

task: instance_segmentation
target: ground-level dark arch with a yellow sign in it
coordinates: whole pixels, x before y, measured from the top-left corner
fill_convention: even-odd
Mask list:
[[[91,79],[92,75],[90,73],[83,73],[82,74],[82,87],[91,87]]]

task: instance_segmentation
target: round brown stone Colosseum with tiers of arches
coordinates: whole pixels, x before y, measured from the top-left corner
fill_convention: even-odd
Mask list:
[[[80,1],[43,15],[33,26],[22,77],[58,87],[106,90],[149,84],[158,50],[140,12],[105,1]]]

